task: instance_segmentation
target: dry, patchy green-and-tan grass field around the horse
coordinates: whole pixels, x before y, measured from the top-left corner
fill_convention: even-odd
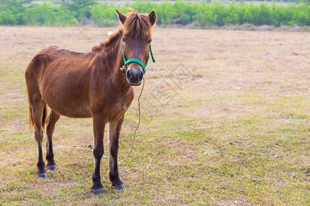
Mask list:
[[[141,126],[119,166],[127,190],[110,188],[104,158],[106,194],[90,192],[92,119],[61,117],[58,169],[37,178],[25,67],[45,45],[87,51],[110,30],[0,27],[0,205],[309,205],[309,32],[156,28]],[[120,161],[138,122],[135,89]]]

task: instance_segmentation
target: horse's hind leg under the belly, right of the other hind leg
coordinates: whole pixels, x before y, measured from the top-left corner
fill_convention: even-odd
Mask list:
[[[56,169],[52,146],[52,135],[55,130],[55,124],[58,121],[59,117],[60,115],[58,113],[55,113],[54,111],[50,111],[50,115],[48,116],[48,125],[46,126],[46,135],[48,136],[48,141],[46,141],[46,160],[48,161],[48,165],[46,165],[46,169],[48,170]]]

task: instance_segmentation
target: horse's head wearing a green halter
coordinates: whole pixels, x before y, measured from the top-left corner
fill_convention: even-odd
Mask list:
[[[156,13],[138,14],[136,12],[125,16],[118,10],[118,19],[123,25],[122,58],[127,67],[126,78],[128,84],[138,86],[141,84],[145,67],[151,53],[152,27],[156,21]]]

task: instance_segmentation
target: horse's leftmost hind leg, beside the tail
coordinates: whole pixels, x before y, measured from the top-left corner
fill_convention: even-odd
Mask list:
[[[39,98],[37,100],[34,100],[32,104],[30,104],[32,109],[32,118],[34,122],[34,138],[37,141],[38,144],[38,152],[39,152],[39,159],[37,163],[38,167],[38,176],[47,178],[48,175],[45,171],[45,163],[43,160],[43,152],[42,152],[42,140],[43,140],[43,126],[42,126],[42,119],[44,118],[44,110],[45,108],[45,102]]]

